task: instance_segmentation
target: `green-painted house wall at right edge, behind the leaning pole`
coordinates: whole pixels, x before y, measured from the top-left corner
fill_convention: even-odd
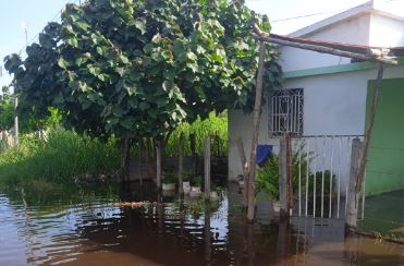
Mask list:
[[[404,75],[403,75],[404,76]],[[369,83],[367,122],[376,82]],[[367,194],[404,189],[404,78],[383,80],[366,167]]]

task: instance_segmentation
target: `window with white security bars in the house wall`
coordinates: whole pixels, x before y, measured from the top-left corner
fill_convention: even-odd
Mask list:
[[[269,136],[303,134],[303,88],[274,90],[269,98]]]

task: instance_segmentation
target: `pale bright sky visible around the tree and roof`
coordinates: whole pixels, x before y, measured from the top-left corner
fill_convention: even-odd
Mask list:
[[[9,84],[11,80],[3,69],[3,58],[19,52],[26,45],[23,24],[26,24],[30,43],[49,21],[58,20],[65,3],[78,1],[0,0],[0,86]],[[385,1],[401,4],[404,10],[404,0]],[[246,0],[250,9],[268,14],[272,21],[272,32],[277,34],[292,33],[365,2],[367,0]]]

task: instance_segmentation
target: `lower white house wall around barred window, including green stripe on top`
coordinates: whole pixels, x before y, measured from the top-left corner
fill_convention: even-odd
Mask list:
[[[377,70],[375,69],[286,80],[284,88],[304,88],[304,135],[364,135],[367,84],[369,80],[375,80],[376,76]],[[384,78],[402,76],[404,76],[404,66],[402,65],[388,68],[384,73]],[[241,111],[229,112],[230,180],[234,180],[238,174],[242,174],[235,140],[238,135],[243,137],[246,154],[249,155],[252,126],[250,116],[245,116]],[[279,140],[269,137],[267,106],[262,109],[259,144],[274,145],[274,152],[278,153],[279,150]],[[321,145],[321,143],[319,144]],[[310,150],[314,150],[313,143],[310,147]],[[320,147],[317,148],[317,150],[319,149]],[[343,160],[346,160],[351,150],[343,145],[341,154]],[[331,150],[326,150],[325,156],[330,158]],[[338,160],[336,156],[334,160]],[[326,160],[325,168],[330,169],[330,160]],[[311,170],[314,170],[313,166]],[[347,165],[342,164],[340,170],[341,185],[345,188],[348,177]],[[336,172],[335,166],[334,171]],[[342,194],[344,194],[343,190]]]

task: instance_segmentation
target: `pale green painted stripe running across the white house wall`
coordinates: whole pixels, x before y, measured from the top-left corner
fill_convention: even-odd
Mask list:
[[[401,58],[399,60],[399,65],[404,65],[404,58]],[[331,65],[331,66],[323,66],[323,68],[316,68],[316,69],[289,71],[289,72],[283,73],[283,77],[287,80],[287,78],[296,78],[296,77],[313,76],[313,75],[325,75],[325,74],[335,74],[335,73],[343,73],[343,72],[351,72],[351,71],[372,70],[377,68],[378,68],[378,63],[375,63],[375,62],[358,62],[358,63]]]

